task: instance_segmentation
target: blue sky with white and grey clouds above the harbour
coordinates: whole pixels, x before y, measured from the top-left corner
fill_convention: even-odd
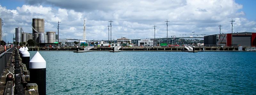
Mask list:
[[[108,40],[108,21],[112,20],[112,39],[168,37],[177,34],[217,34],[256,32],[256,0],[0,0],[4,35],[12,42],[15,28],[32,33],[32,18],[44,18],[45,32],[57,32],[60,39],[83,38],[86,18],[87,40]],[[110,37],[109,37],[110,38]]]

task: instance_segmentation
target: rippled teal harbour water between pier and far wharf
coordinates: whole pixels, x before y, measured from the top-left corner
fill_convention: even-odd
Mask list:
[[[256,94],[256,52],[40,54],[49,95]]]

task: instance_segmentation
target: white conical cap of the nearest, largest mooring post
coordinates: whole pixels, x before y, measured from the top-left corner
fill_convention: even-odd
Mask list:
[[[46,68],[46,61],[44,58],[40,55],[39,52],[36,52],[34,57],[29,62],[29,68],[30,69],[42,69]]]

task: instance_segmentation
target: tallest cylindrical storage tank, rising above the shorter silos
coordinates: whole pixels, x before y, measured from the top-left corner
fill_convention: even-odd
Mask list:
[[[44,19],[42,18],[33,18],[32,19],[32,27],[38,32],[38,33],[44,33]],[[36,31],[32,29],[33,34],[36,33]]]

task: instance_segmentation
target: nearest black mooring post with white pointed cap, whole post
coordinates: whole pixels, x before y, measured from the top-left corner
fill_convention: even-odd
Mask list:
[[[34,57],[29,62],[30,83],[38,85],[39,95],[46,94],[46,61],[36,52]]]

